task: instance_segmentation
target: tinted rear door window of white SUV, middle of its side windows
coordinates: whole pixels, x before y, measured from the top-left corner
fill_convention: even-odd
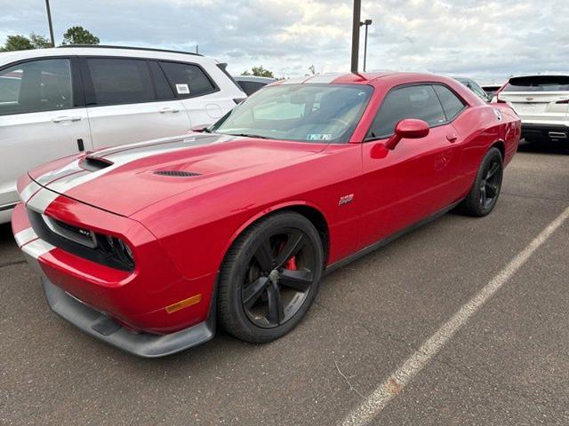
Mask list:
[[[97,105],[154,100],[146,60],[87,59]]]

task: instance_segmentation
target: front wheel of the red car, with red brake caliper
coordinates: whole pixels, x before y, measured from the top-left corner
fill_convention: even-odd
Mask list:
[[[294,212],[261,219],[241,234],[220,269],[221,326],[251,343],[275,340],[308,312],[324,269],[310,221]]]

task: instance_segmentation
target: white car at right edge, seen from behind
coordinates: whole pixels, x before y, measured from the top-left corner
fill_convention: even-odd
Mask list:
[[[569,75],[520,75],[495,95],[522,119],[522,136],[530,142],[569,138]]]

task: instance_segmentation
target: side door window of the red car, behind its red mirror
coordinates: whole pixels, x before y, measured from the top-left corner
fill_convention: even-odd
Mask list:
[[[397,122],[417,118],[436,126],[445,122],[445,113],[430,85],[402,87],[390,91],[383,99],[368,138],[387,138]]]

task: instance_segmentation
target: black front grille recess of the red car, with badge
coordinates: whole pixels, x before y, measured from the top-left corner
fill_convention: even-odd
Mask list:
[[[109,245],[109,239],[117,240],[116,237],[93,233],[53,217],[46,217],[32,209],[28,209],[28,218],[37,236],[54,247],[121,271],[134,270],[132,259],[122,256]]]

